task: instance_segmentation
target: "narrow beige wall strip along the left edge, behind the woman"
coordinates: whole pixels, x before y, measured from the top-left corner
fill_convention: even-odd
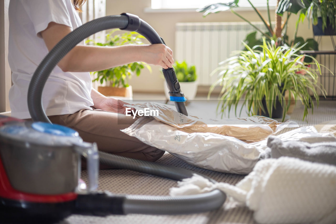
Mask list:
[[[8,64],[8,5],[0,1],[0,113],[10,111],[8,92],[11,87],[11,71]]]

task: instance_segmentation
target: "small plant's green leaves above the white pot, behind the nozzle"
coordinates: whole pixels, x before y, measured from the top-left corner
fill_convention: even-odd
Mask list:
[[[195,65],[188,66],[185,61],[175,62],[174,70],[179,82],[193,82],[197,79]]]

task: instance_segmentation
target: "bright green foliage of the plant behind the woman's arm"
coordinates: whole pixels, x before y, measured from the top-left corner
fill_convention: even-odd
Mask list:
[[[125,44],[143,44],[142,39],[145,39],[142,35],[136,32],[126,32],[123,34],[114,34],[118,29],[115,29],[106,35],[105,43],[94,42],[97,46],[120,46]],[[87,42],[93,42],[89,40]],[[118,66],[110,69],[105,69],[102,71],[94,72],[97,74],[97,78],[93,81],[99,81],[101,84],[106,81],[110,82],[113,87],[127,87],[129,86],[128,81],[132,75],[136,74],[139,76],[141,69],[146,67],[150,72],[152,72],[151,67],[143,62],[134,62],[123,66]]]

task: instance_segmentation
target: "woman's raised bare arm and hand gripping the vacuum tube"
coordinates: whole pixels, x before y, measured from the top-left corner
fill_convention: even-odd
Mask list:
[[[41,31],[41,35],[50,51],[71,31],[72,29],[66,25],[51,22]],[[163,68],[171,68],[174,62],[172,50],[164,44],[116,47],[77,45],[58,63],[58,66],[64,72],[92,72],[139,61]]]

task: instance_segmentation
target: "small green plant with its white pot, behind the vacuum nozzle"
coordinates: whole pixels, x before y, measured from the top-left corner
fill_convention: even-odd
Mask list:
[[[198,85],[195,65],[188,66],[187,63],[183,61],[181,63],[175,62],[173,67],[184,96],[188,100],[194,100]],[[167,88],[166,82],[164,83],[164,89],[166,97],[169,99],[169,90]]]

